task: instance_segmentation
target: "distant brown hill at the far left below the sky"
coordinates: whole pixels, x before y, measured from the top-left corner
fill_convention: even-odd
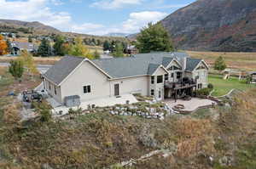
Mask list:
[[[50,34],[50,33],[61,33],[61,31],[51,27],[49,25],[44,25],[38,21],[34,22],[26,22],[20,20],[0,20],[0,27],[8,28],[8,29],[16,29],[19,31],[23,29],[28,29],[29,31],[36,33],[36,34]],[[8,30],[7,29],[7,30]]]

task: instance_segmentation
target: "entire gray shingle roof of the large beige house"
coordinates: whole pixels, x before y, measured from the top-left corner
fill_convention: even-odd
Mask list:
[[[191,59],[189,55],[185,53],[167,52],[136,54],[131,57],[94,59],[91,61],[112,78],[123,78],[129,76],[153,75],[154,71],[157,70],[160,65],[166,67],[173,59],[177,59],[182,65],[184,58],[187,58],[186,70],[194,70],[195,66],[201,61],[201,59]],[[66,56],[51,67],[44,76],[49,79],[49,81],[59,85],[83,60],[84,58]]]

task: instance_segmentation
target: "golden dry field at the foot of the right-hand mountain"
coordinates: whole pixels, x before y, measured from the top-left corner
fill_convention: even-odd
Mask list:
[[[212,65],[218,56],[222,56],[230,68],[240,70],[256,70],[256,53],[224,53],[224,52],[195,52],[187,51],[192,58],[206,60]]]

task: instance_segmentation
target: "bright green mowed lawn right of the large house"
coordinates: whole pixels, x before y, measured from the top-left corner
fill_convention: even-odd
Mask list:
[[[240,82],[237,77],[230,77],[228,80],[224,80],[223,76],[209,75],[209,83],[212,83],[214,92],[212,96],[223,96],[230,92],[231,89],[237,88],[240,90],[246,90],[250,87],[256,87],[256,85],[248,85],[246,82]]]

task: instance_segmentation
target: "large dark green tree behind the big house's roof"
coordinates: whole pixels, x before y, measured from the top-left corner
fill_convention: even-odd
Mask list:
[[[149,23],[144,27],[137,37],[137,48],[140,53],[149,53],[152,51],[173,51],[171,37],[168,31],[161,25]]]

